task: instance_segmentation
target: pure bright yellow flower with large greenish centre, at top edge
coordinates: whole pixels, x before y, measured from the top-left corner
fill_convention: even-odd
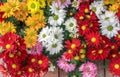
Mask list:
[[[30,10],[31,14],[35,14],[39,11],[39,2],[36,0],[28,0],[27,2],[28,10]]]

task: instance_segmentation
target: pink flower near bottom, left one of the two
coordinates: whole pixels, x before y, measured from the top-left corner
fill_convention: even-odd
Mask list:
[[[64,59],[59,59],[57,61],[57,65],[60,69],[64,70],[65,72],[71,72],[75,69],[75,64],[69,64],[67,61]]]

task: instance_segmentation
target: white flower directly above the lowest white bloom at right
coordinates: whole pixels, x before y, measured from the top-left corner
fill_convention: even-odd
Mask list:
[[[117,20],[117,17],[115,16],[115,13],[112,11],[105,11],[103,14],[99,16],[99,22],[105,23],[105,22],[115,22]]]

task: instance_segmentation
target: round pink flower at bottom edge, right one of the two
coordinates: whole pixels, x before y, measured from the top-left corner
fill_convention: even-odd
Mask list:
[[[97,66],[92,62],[87,62],[79,67],[79,71],[82,71],[83,77],[95,77],[97,75]]]

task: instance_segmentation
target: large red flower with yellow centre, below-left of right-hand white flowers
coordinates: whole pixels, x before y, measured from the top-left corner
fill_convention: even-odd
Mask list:
[[[98,47],[102,41],[101,35],[98,32],[91,32],[85,36],[88,46]]]

